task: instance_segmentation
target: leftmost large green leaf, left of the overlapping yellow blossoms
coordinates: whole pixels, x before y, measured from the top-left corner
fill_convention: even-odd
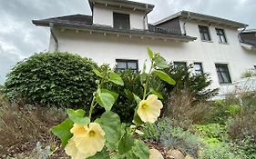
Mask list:
[[[72,137],[70,129],[73,127],[73,122],[70,119],[66,119],[61,124],[57,124],[51,128],[53,134],[55,134],[60,140],[63,146],[67,145],[68,140]]]

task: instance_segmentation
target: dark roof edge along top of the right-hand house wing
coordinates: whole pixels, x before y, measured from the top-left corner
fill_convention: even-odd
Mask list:
[[[247,26],[247,24],[243,24],[241,22],[236,22],[236,21],[232,21],[229,19],[224,19],[224,18],[211,16],[211,15],[203,15],[203,14],[194,13],[194,12],[190,12],[190,11],[180,11],[179,13],[177,13],[175,15],[170,15],[164,19],[159,20],[158,22],[154,23],[153,25],[159,25],[159,24],[168,22],[172,19],[175,19],[177,17],[185,18],[185,19],[189,18],[189,20],[198,20],[200,22],[215,23],[218,25],[227,25],[227,26],[231,26],[231,27],[235,27],[235,28],[243,28],[243,27]]]

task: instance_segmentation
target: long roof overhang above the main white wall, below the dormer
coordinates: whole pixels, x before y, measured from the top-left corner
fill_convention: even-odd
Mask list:
[[[34,25],[37,26],[50,26],[48,21],[44,20],[33,20]],[[109,26],[102,25],[76,25],[76,24],[64,24],[58,22],[51,22],[55,27],[60,27],[64,29],[72,29],[77,31],[89,31],[94,33],[103,33],[111,35],[128,35],[128,36],[139,36],[141,38],[151,38],[151,39],[163,39],[163,40],[174,40],[177,42],[190,42],[197,39],[197,37],[192,37],[189,35],[171,35],[171,34],[161,34],[155,32],[148,32],[142,30],[119,30]]]

